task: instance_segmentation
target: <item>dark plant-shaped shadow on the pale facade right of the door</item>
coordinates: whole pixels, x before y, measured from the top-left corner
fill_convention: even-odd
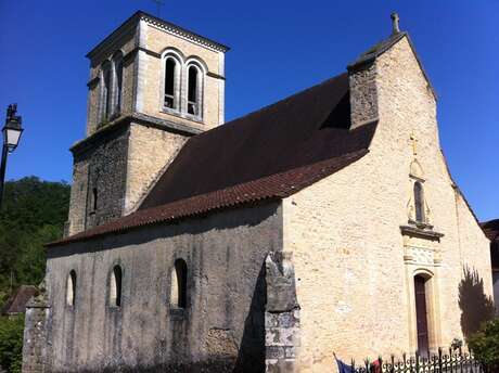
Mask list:
[[[477,332],[484,321],[494,318],[494,301],[484,291],[484,280],[478,271],[463,267],[463,279],[459,284],[459,307],[461,308],[461,330],[468,339]]]

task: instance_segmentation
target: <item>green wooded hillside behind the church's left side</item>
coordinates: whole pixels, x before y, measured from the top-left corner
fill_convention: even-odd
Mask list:
[[[37,177],[5,183],[0,211],[0,307],[22,284],[38,285],[46,266],[44,243],[63,234],[69,185]]]

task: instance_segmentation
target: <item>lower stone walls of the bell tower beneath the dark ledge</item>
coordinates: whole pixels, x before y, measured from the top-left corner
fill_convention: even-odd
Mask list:
[[[188,139],[131,123],[76,153],[69,234],[132,213]]]

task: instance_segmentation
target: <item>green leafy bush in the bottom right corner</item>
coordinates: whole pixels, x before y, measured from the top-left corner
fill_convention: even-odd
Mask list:
[[[484,323],[468,344],[486,372],[499,372],[499,318]]]

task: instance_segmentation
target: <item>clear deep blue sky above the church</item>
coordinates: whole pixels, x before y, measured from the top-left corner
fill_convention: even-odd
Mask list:
[[[152,0],[0,0],[0,110],[26,128],[7,177],[71,181],[85,131],[85,54]],[[499,217],[499,1],[168,1],[162,17],[232,48],[227,119],[345,70],[400,14],[438,93],[440,141],[481,220]]]

